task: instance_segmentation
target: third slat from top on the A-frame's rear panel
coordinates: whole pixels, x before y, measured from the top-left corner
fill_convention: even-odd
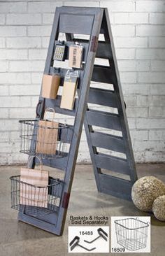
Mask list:
[[[115,83],[115,70],[110,69],[110,66],[94,65],[92,73],[92,81],[100,83]]]

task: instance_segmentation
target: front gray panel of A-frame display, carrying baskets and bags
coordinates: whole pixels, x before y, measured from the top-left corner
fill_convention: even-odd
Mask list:
[[[40,95],[36,113],[39,119],[43,118],[45,108],[55,108],[57,113],[64,115],[74,116],[74,125],[71,127],[68,142],[70,143],[69,153],[62,159],[44,159],[43,164],[58,168],[65,172],[64,186],[62,190],[62,196],[58,211],[46,215],[44,217],[34,217],[28,215],[24,210],[19,212],[18,220],[27,222],[31,225],[44,229],[53,234],[62,235],[64,229],[64,223],[66,219],[66,212],[69,204],[69,197],[71,192],[71,186],[73,182],[73,175],[76,166],[76,159],[78,155],[78,147],[80,143],[80,136],[82,132],[82,125],[84,121],[84,115],[87,108],[87,98],[89,94],[89,85],[92,78],[92,71],[94,66],[94,58],[96,51],[92,50],[94,47],[93,38],[99,36],[101,29],[101,20],[103,17],[103,8],[77,8],[77,7],[59,7],[56,8],[55,18],[52,26],[52,34],[50,36],[50,45],[48,48],[48,55],[45,62],[44,73],[58,73],[64,77],[66,70],[57,70],[53,67],[53,54],[55,49],[55,43],[58,40],[59,33],[66,34],[66,40],[71,41],[73,33],[89,34],[89,42],[84,43],[85,47],[85,65],[80,71],[80,79],[78,84],[79,97],[76,100],[73,111],[67,111],[60,108],[61,97],[57,99],[43,99]],[[87,24],[86,26],[84,24]],[[31,167],[34,168],[38,162],[34,160]]]

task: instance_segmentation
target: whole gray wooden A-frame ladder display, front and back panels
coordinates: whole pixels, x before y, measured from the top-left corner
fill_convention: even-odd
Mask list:
[[[67,137],[67,143],[70,143],[68,154],[62,158],[43,159],[43,164],[64,171],[64,187],[57,212],[34,218],[24,211],[19,211],[18,220],[53,234],[62,235],[83,124],[99,192],[131,199],[131,187],[137,176],[108,10],[106,8],[63,6],[56,8],[45,62],[45,74],[57,72],[53,67],[53,55],[55,43],[59,40],[59,33],[65,34],[66,45],[78,41],[84,47],[83,61],[85,64],[80,70],[78,98],[73,111],[69,111],[60,108],[60,95],[57,99],[43,99],[40,96],[36,112],[38,118],[42,119],[45,108],[49,107],[55,108],[56,113],[74,117],[74,125]],[[83,36],[76,38],[76,34],[88,35],[89,40],[83,39]],[[99,40],[99,34],[103,34],[104,41]],[[109,65],[94,64],[95,57],[108,59]],[[66,71],[66,69],[60,69],[60,76],[64,77]],[[102,86],[94,87],[91,81],[98,85],[99,83],[100,85],[102,83],[113,85],[114,90],[103,89]],[[99,105],[99,108],[92,109],[92,104]],[[114,108],[117,113],[105,112],[105,107]],[[98,127],[100,131],[95,127]],[[108,131],[114,131],[114,133]],[[122,136],[116,135],[117,132]],[[99,148],[118,152],[120,155],[124,154],[125,157],[108,155],[106,151],[99,152]],[[34,159],[31,168],[36,162],[37,159]],[[115,173],[120,173],[127,178],[120,178]]]

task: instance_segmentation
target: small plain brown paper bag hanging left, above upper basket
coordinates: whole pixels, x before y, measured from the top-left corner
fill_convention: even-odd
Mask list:
[[[59,89],[60,76],[43,75],[42,97],[55,99]]]

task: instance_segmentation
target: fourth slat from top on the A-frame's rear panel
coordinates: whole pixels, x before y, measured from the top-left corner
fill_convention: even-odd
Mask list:
[[[110,106],[112,108],[117,108],[117,99],[115,97],[114,91],[90,88],[88,102],[92,104],[99,104],[103,106]]]

